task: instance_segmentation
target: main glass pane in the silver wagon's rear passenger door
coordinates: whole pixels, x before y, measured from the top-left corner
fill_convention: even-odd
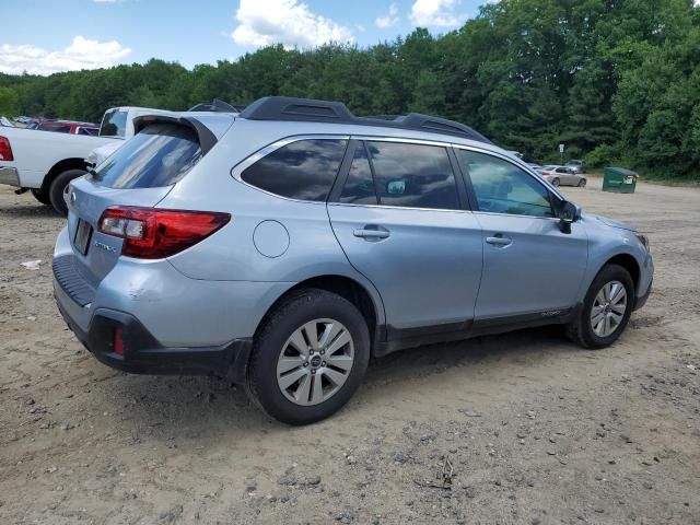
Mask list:
[[[366,144],[381,205],[460,209],[445,148],[383,141]]]

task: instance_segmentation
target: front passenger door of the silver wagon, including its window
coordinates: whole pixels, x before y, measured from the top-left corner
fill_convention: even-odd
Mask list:
[[[483,230],[483,277],[476,318],[555,316],[576,302],[588,255],[581,221],[562,233],[557,199],[505,156],[457,149]]]

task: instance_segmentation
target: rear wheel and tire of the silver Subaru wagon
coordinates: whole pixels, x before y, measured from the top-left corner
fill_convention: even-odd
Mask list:
[[[350,399],[369,361],[370,331],[358,308],[325,290],[300,290],[264,320],[247,392],[279,421],[313,423]]]

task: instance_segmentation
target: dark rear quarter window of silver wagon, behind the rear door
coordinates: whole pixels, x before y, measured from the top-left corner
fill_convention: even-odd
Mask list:
[[[347,143],[342,139],[298,140],[246,167],[241,178],[281,197],[323,202],[338,175]]]

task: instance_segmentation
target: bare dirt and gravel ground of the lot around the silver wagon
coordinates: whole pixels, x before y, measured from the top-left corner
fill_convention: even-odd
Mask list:
[[[51,296],[63,220],[0,186],[0,524],[700,524],[700,189],[565,192],[651,238],[654,293],[612,348],[410,350],[289,428],[223,381],[91,358]]]

